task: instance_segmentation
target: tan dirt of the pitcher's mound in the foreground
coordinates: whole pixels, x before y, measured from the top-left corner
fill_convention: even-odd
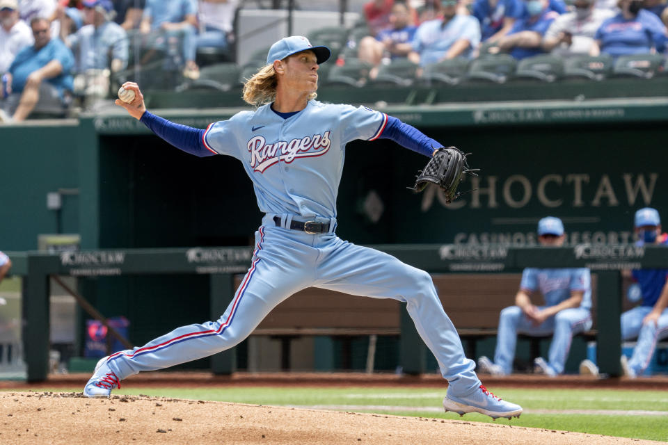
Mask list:
[[[466,419],[466,418],[464,418]],[[503,422],[503,423],[501,423]],[[0,444],[660,444],[579,432],[149,396],[0,393]]]

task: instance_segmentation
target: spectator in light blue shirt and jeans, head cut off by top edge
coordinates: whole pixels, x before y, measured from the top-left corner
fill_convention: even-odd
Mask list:
[[[183,74],[189,79],[198,79],[196,0],[146,0],[140,31],[150,34],[151,46],[166,47],[168,51],[173,42],[180,41],[180,57],[185,61]]]

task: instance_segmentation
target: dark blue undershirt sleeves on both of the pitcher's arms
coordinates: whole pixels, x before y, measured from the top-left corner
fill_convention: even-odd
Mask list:
[[[216,154],[207,149],[202,142],[205,130],[175,124],[148,111],[141,116],[141,122],[157,136],[186,153],[199,157]],[[394,140],[397,144],[411,149],[413,152],[429,157],[435,149],[442,146],[415,127],[411,127],[411,125],[405,124],[392,116],[388,116],[388,124],[379,137]]]

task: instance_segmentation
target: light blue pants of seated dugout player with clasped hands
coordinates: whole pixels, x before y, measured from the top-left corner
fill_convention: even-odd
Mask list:
[[[545,306],[539,307],[545,309]],[[494,363],[501,366],[503,373],[513,371],[513,359],[517,345],[517,334],[543,337],[552,334],[548,353],[548,365],[557,374],[564,372],[568,350],[574,334],[591,328],[591,314],[588,309],[573,307],[557,312],[538,326],[534,326],[518,306],[509,306],[501,311],[496,337]]]

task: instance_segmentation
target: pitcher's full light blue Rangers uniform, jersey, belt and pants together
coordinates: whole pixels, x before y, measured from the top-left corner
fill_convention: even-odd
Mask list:
[[[255,232],[252,264],[218,321],[179,327],[141,348],[112,354],[104,360],[104,372],[109,369],[123,379],[226,350],[248,337],[273,307],[315,286],[405,302],[450,382],[448,394],[466,396],[479,390],[475,363],[464,355],[429,274],[335,234],[346,144],[384,137],[393,124],[399,121],[364,106],[311,100],[294,114],[282,116],[265,105],[194,133],[200,134],[207,154],[239,159],[253,181],[265,215]],[[186,127],[174,128],[193,134]]]

